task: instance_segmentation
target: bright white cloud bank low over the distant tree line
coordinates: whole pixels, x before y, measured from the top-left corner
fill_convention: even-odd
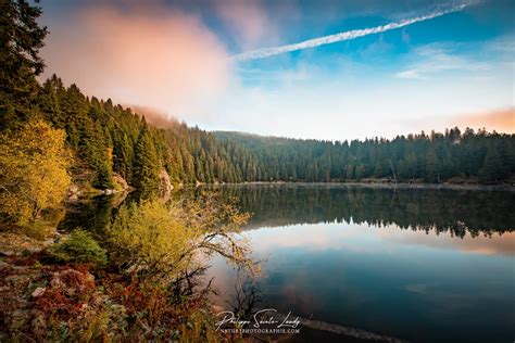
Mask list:
[[[423,63],[404,69],[407,76],[413,73],[411,78],[392,77],[388,68],[344,58],[332,61],[330,69],[302,63],[265,73],[246,71],[251,85],[233,82],[228,97],[219,101],[221,115],[196,124],[298,138],[392,138],[442,130],[456,114],[513,105],[513,68],[508,64],[492,59],[475,61],[447,53],[449,49],[438,45],[415,49],[406,60],[424,58],[427,63],[425,69]],[[418,82],[415,76],[427,79]]]

